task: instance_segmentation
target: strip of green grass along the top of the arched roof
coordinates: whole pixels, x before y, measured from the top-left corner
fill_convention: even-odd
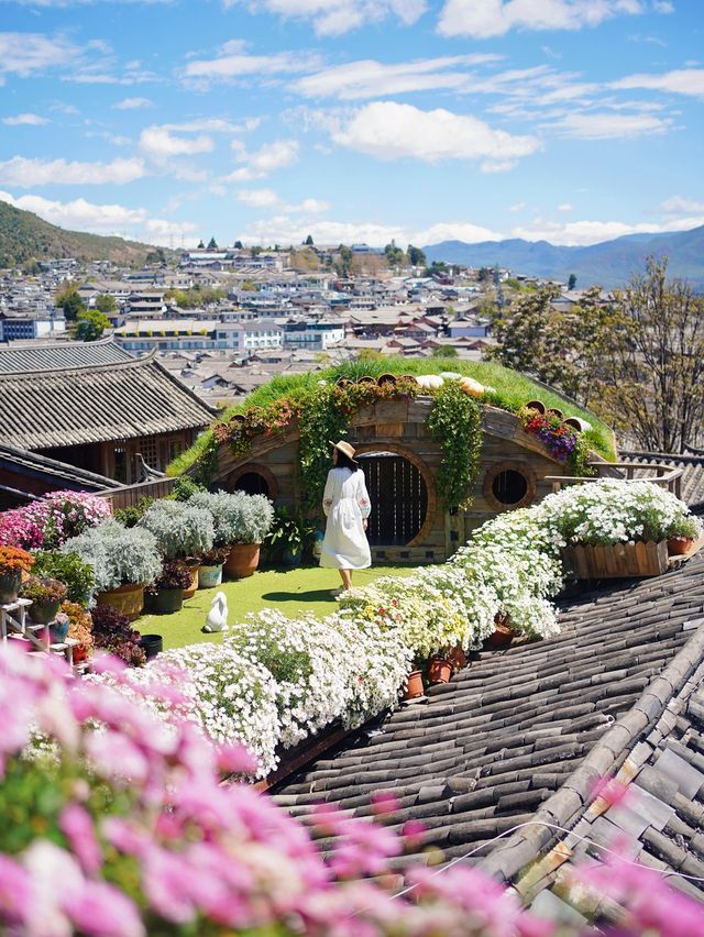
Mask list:
[[[334,382],[339,377],[356,381],[364,375],[378,377],[381,374],[440,374],[452,371],[473,377],[481,384],[496,390],[495,404],[503,409],[517,411],[528,400],[540,399],[548,407],[558,407],[565,417],[581,417],[592,425],[587,439],[590,445],[606,459],[614,460],[614,442],[610,429],[593,414],[578,407],[554,390],[546,390],[529,377],[503,367],[495,362],[459,361],[452,357],[408,359],[388,357],[383,360],[350,361],[326,371],[314,371],[306,374],[293,374],[285,377],[274,377],[268,384],[257,387],[242,400],[224,411],[221,421],[227,421],[233,414],[243,414],[249,407],[264,407],[280,397],[293,400],[304,397],[316,389],[319,381]],[[212,431],[206,430],[198,437],[194,445],[177,456],[167,467],[168,475],[180,475],[188,471],[207,451],[212,439]]]

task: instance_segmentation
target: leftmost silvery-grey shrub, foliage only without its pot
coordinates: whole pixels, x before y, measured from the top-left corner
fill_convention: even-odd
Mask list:
[[[122,527],[117,520],[74,537],[62,551],[77,553],[84,562],[90,563],[96,592],[128,584],[143,585],[162,571],[154,534],[140,527]]]

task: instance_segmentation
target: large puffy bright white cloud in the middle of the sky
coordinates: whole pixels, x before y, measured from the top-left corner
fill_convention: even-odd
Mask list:
[[[540,147],[535,136],[513,136],[468,114],[422,111],[395,101],[366,104],[331,135],[336,143],[378,159],[484,159],[486,172]]]

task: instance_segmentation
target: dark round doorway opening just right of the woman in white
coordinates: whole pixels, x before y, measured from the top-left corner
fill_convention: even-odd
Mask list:
[[[372,547],[405,547],[428,512],[428,488],[419,470],[395,452],[358,455],[372,501],[366,531]]]

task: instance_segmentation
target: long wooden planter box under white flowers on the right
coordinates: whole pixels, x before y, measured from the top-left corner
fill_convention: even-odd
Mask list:
[[[668,569],[668,542],[565,547],[562,562],[578,580],[659,576]]]

